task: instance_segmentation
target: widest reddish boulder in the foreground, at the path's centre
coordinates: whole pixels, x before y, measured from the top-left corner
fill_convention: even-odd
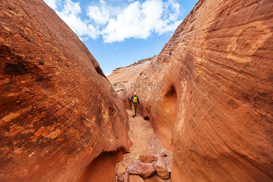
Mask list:
[[[136,174],[144,178],[149,178],[154,175],[155,170],[152,164],[133,161],[126,167],[129,174]]]

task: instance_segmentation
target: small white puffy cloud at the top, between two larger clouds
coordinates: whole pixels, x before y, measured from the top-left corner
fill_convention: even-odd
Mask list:
[[[97,6],[89,6],[87,9],[87,16],[93,19],[97,24],[105,25],[110,17],[109,12],[105,8],[105,1],[100,0],[101,8]]]

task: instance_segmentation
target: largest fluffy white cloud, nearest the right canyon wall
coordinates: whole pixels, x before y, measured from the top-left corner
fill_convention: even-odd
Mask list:
[[[176,29],[180,14],[180,5],[174,0],[135,1],[109,19],[102,36],[104,42],[112,43],[131,37],[146,39],[152,33],[161,35]]]

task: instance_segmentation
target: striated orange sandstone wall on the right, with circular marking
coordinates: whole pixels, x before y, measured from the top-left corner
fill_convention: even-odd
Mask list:
[[[172,182],[273,181],[272,9],[199,0],[134,80],[164,83],[139,113],[173,150]]]

